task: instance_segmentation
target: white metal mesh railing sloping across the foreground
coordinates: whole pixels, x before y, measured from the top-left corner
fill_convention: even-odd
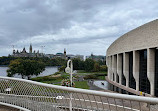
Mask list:
[[[0,103],[31,111],[157,111],[158,99],[0,77]]]

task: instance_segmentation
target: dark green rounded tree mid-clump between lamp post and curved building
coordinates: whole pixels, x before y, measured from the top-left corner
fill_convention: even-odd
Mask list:
[[[84,67],[86,71],[93,71],[94,69],[94,60],[92,59],[86,59],[84,62]]]

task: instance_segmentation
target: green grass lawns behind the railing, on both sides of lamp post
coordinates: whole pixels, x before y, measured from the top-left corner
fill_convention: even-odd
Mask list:
[[[60,73],[60,76],[57,76],[57,77],[53,77],[53,75],[49,75],[49,76],[44,76],[44,77],[32,78],[32,80],[48,83],[48,84],[61,85],[61,81],[63,79],[69,79],[70,75],[64,72],[59,72],[59,73]],[[106,74],[107,72],[85,72],[85,71],[79,70],[77,71],[77,74],[73,75],[73,77],[76,76],[77,78],[77,76],[83,76],[83,77],[86,77],[86,79],[105,80]],[[75,88],[89,89],[89,86],[87,84],[87,81],[75,81]]]

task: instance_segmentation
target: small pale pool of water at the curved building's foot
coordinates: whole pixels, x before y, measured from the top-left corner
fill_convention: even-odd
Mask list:
[[[95,86],[108,90],[108,82],[103,80],[94,81]]]

